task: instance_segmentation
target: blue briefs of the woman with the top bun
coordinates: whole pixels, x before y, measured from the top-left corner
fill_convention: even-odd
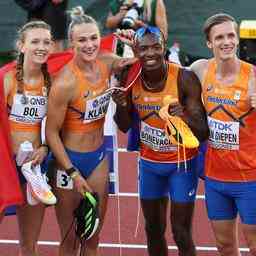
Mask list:
[[[68,157],[72,164],[78,168],[80,173],[88,178],[94,169],[99,165],[99,163],[106,156],[106,146],[103,143],[96,151],[92,152],[75,152],[69,149],[66,149]]]

